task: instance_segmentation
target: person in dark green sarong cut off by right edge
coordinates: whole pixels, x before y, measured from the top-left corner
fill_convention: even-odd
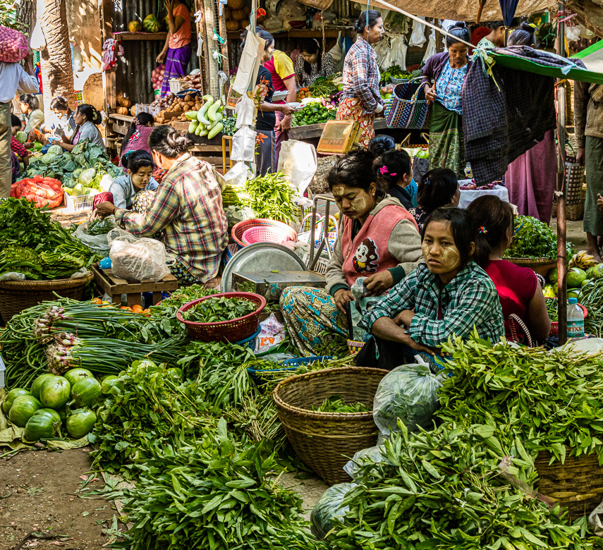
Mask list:
[[[603,212],[597,207],[597,195],[603,195],[603,85],[576,80],[573,97],[577,160],[586,168],[583,224],[587,253],[601,262]]]

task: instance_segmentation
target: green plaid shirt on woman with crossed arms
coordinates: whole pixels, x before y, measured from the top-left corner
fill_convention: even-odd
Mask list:
[[[417,343],[438,348],[453,334],[468,338],[477,329],[480,338],[498,342],[504,319],[497,288],[475,262],[469,262],[452,281],[440,288],[440,278],[420,264],[362,318],[368,330],[380,317],[394,319],[414,310],[408,332]]]

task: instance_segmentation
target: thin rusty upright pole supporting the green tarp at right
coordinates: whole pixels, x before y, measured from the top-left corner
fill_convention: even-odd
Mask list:
[[[559,4],[559,11],[563,10]],[[565,57],[565,23],[559,23],[557,33],[557,54]],[[557,137],[559,138],[557,153],[557,315],[559,317],[559,345],[567,341],[568,307],[567,307],[567,252],[566,252],[566,204],[568,188],[565,184],[566,158],[566,87],[557,86]]]

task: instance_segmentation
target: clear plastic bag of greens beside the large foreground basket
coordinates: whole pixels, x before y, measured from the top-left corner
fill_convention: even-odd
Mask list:
[[[432,416],[438,406],[437,390],[444,378],[435,375],[418,358],[417,363],[396,367],[379,382],[374,394],[372,416],[379,430],[389,435],[398,432],[398,418],[410,432],[417,426],[432,426]]]

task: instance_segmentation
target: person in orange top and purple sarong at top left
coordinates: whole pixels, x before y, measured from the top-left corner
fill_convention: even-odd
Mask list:
[[[165,61],[162,97],[169,94],[169,80],[186,74],[192,49],[190,46],[190,12],[180,0],[165,0],[168,13],[168,35],[164,49],[157,56],[157,63]]]

